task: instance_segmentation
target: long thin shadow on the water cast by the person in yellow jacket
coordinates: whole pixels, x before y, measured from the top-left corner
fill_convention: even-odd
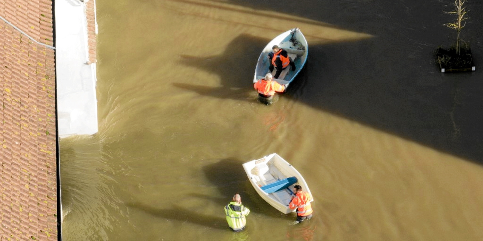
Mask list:
[[[181,222],[190,222],[209,228],[223,230],[227,229],[227,221],[224,218],[220,218],[219,216],[197,214],[196,212],[187,210],[179,206],[174,206],[174,208],[170,209],[158,209],[142,203],[128,203],[127,205],[131,208],[139,209],[146,214],[160,218],[178,220]]]

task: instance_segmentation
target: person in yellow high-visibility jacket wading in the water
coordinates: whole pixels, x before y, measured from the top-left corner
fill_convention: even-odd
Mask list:
[[[233,196],[233,201],[225,206],[225,214],[227,214],[228,227],[235,232],[240,232],[245,228],[246,218],[250,210],[241,205],[241,197],[239,194]]]

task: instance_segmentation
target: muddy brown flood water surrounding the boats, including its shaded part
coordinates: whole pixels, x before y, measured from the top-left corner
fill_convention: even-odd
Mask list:
[[[99,133],[60,140],[64,241],[483,240],[483,3],[462,32],[477,70],[443,74],[452,2],[97,0]],[[293,27],[308,63],[262,105],[256,60]],[[251,187],[241,164],[273,152],[310,221]]]

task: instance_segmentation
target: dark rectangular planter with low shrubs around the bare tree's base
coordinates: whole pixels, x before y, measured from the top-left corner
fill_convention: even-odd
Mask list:
[[[436,62],[439,64],[441,73],[475,71],[471,49],[461,48],[456,54],[455,48],[449,50],[439,47],[436,50]]]

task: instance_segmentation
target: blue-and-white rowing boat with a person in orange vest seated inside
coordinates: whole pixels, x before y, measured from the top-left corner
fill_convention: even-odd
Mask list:
[[[286,50],[288,56],[291,57],[295,63],[296,68],[294,71],[288,66],[282,71],[278,79],[273,79],[279,84],[284,84],[285,87],[288,87],[300,70],[302,70],[305,62],[307,62],[307,55],[309,53],[307,40],[298,27],[290,29],[271,40],[267,46],[265,46],[256,62],[255,76],[253,77],[254,83],[265,78],[265,75],[270,73],[270,59],[268,58],[268,54],[272,52],[273,45],[278,45],[280,48]],[[274,68],[271,72],[272,76],[275,76],[276,72],[277,69]]]

